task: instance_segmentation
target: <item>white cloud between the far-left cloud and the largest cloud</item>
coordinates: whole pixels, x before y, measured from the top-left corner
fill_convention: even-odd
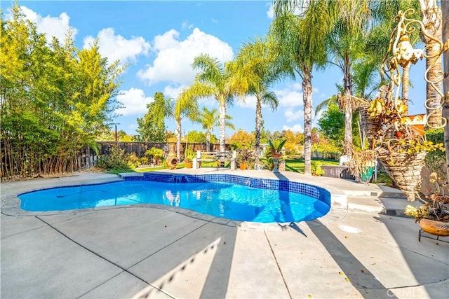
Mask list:
[[[135,62],[138,55],[147,55],[150,45],[142,36],[131,36],[125,39],[121,35],[116,35],[113,28],[105,28],[98,32],[98,52],[103,57],[107,57],[109,63],[120,60],[121,64]],[[86,36],[83,41],[83,48],[91,48],[95,38]]]

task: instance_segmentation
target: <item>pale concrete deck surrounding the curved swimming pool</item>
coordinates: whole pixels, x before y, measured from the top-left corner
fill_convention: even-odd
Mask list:
[[[272,224],[152,204],[32,213],[16,195],[121,179],[2,182],[0,297],[449,298],[449,238],[418,242],[419,225],[397,216],[410,202],[396,189],[294,172],[164,172],[302,181],[329,190],[333,207]]]

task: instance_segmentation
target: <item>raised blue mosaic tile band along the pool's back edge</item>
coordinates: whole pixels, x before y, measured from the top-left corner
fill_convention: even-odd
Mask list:
[[[330,207],[330,192],[309,183],[276,179],[255,179],[235,174],[159,174],[146,172],[143,176],[122,176],[125,181],[156,181],[161,183],[236,183],[243,186],[281,190],[314,197]]]

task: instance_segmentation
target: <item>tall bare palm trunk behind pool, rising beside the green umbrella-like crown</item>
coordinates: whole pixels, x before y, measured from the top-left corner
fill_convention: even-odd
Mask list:
[[[304,102],[304,174],[311,174],[311,74],[304,72],[302,78],[302,100]]]

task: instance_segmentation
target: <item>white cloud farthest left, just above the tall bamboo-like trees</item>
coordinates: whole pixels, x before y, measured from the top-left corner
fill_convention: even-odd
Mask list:
[[[78,33],[77,29],[69,25],[70,18],[67,13],[61,13],[58,17],[51,17],[50,15],[42,17],[26,6],[20,6],[20,9],[25,18],[36,24],[37,32],[46,34],[47,43],[51,43],[52,36],[55,36],[61,44],[64,43],[65,35],[69,29],[72,29],[72,39]]]

